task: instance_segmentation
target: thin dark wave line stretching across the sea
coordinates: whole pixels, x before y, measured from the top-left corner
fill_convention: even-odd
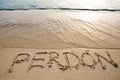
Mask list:
[[[81,9],[81,8],[17,8],[0,10],[82,10],[82,11],[120,11],[120,9]]]

